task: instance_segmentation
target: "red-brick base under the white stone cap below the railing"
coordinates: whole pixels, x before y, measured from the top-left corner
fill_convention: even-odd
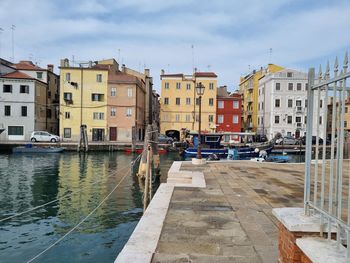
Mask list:
[[[290,232],[279,223],[278,262],[279,263],[312,263],[296,244],[296,239],[305,236],[319,236],[320,233]]]

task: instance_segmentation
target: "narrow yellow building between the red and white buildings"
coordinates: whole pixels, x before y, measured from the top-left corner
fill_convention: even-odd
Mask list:
[[[240,93],[243,95],[243,114],[242,114],[242,129],[244,131],[257,131],[258,127],[258,86],[259,79],[265,73],[274,73],[282,70],[275,64],[268,64],[267,68],[260,68],[260,70],[253,70],[245,77],[241,77],[239,83]]]

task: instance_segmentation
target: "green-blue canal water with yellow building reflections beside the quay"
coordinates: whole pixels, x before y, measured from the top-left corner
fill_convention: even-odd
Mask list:
[[[142,216],[136,155],[0,154],[0,262],[27,262],[63,237],[120,183],[76,230],[33,262],[113,262]],[[161,155],[161,181],[177,153]],[[125,176],[124,180],[123,177]],[[121,181],[122,180],[122,181]]]

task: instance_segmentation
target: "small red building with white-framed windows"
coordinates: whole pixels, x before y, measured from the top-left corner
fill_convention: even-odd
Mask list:
[[[216,97],[216,131],[240,132],[242,126],[242,97],[228,93],[226,86],[219,87]],[[232,138],[232,139],[237,139]]]

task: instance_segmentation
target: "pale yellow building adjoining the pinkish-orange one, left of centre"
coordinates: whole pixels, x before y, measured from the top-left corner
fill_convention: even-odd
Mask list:
[[[68,59],[61,61],[60,135],[63,140],[78,141],[80,125],[86,125],[89,140],[103,141],[107,133],[108,67],[92,62],[81,66],[70,66]]]

